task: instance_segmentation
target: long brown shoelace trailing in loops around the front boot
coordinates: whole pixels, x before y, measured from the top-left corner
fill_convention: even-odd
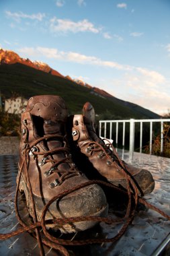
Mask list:
[[[87,245],[87,244],[93,244],[93,243],[110,243],[110,242],[114,243],[114,242],[118,241],[118,239],[124,234],[124,232],[128,228],[130,222],[132,222],[132,220],[134,218],[134,214],[136,212],[136,206],[137,206],[138,202],[142,203],[143,205],[146,205],[146,207],[149,207],[152,210],[155,210],[156,212],[158,212],[159,214],[161,214],[162,216],[167,218],[167,220],[170,220],[170,216],[165,214],[165,212],[159,210],[159,208],[155,207],[154,205],[151,205],[151,203],[146,202],[144,199],[142,199],[138,195],[138,189],[137,189],[134,181],[127,174],[127,170],[126,170],[126,167],[124,166],[124,162],[122,162],[122,160],[120,160],[118,153],[116,152],[116,150],[114,150],[114,148],[112,147],[112,144],[108,143],[108,145],[103,147],[99,143],[93,141],[95,143],[95,145],[99,146],[100,149],[102,148],[102,150],[103,150],[103,152],[105,152],[105,154],[108,153],[107,152],[108,148],[110,148],[110,147],[113,148],[114,154],[115,154],[120,166],[122,166],[122,171],[124,172],[124,176],[126,178],[127,191],[123,191],[119,187],[116,187],[115,185],[112,185],[111,183],[108,183],[105,181],[99,181],[99,180],[87,181],[86,183],[77,185],[77,186],[73,187],[72,189],[68,189],[62,193],[59,193],[58,195],[56,195],[52,199],[50,199],[50,201],[48,201],[48,203],[46,203],[46,205],[44,205],[44,209],[42,210],[41,221],[38,222],[37,215],[36,215],[36,206],[34,203],[32,186],[30,183],[30,177],[29,177],[29,171],[28,171],[28,166],[29,166],[29,161],[30,161],[29,152],[30,152],[31,148],[33,146],[36,146],[36,144],[38,142],[42,141],[43,139],[49,139],[51,137],[54,138],[54,137],[56,137],[56,135],[46,135],[43,138],[37,139],[36,141],[34,141],[34,143],[32,143],[24,151],[24,160],[22,162],[22,166],[19,168],[18,183],[17,183],[16,193],[15,193],[15,212],[16,212],[16,216],[17,216],[19,223],[22,225],[22,228],[19,228],[18,230],[15,230],[15,231],[7,233],[7,234],[0,234],[1,240],[5,240],[12,236],[21,234],[22,232],[28,231],[33,236],[35,236],[37,238],[38,246],[40,249],[40,255],[44,255],[44,249],[43,249],[43,244],[44,244],[44,245],[47,245],[48,247],[52,247],[52,248],[56,249],[62,255],[69,256],[69,252],[64,247],[66,245]],[[59,150],[62,151],[63,148],[49,150],[46,152],[46,156],[48,154],[54,154],[54,152],[58,152]],[[95,150],[98,150],[98,149],[95,149]],[[65,148],[65,151],[68,151],[67,147]],[[41,153],[36,152],[36,154],[41,154]],[[108,155],[108,154],[106,154],[106,155]],[[108,157],[110,158],[110,155]],[[68,158],[64,159],[63,162],[65,162],[66,160],[68,161],[69,159]],[[52,163],[59,164],[58,162],[55,162],[53,159],[52,159]],[[31,203],[33,205],[34,223],[29,226],[24,222],[24,220],[22,220],[22,217],[19,215],[19,211],[18,211],[18,207],[17,207],[19,183],[20,183],[21,175],[22,175],[24,168],[26,170],[26,179],[28,180],[28,183],[27,183],[28,191],[30,193]],[[75,174],[75,175],[77,174],[77,171],[75,170],[75,168],[73,168],[73,170],[71,170],[71,172],[72,173],[70,173],[70,174]],[[70,175],[70,174],[68,174],[68,175]],[[62,177],[62,178],[67,179],[67,175],[65,175],[65,177]],[[124,217],[115,219],[115,218],[110,218],[110,217],[103,218],[103,217],[94,217],[94,216],[83,216],[83,217],[74,217],[73,216],[72,218],[53,218],[51,220],[46,220],[46,212],[48,211],[48,208],[55,200],[60,199],[61,197],[64,197],[66,195],[69,195],[69,193],[72,193],[73,191],[77,191],[78,189],[81,189],[83,187],[87,187],[87,186],[93,185],[93,184],[110,187],[111,189],[114,189],[114,190],[116,189],[117,191],[120,191],[121,193],[128,195],[128,205],[127,205],[126,214],[124,215]],[[131,187],[133,188],[133,193],[131,191]],[[132,204],[132,201],[134,201],[133,204]],[[69,241],[69,240],[57,238],[56,236],[52,236],[46,228],[46,224],[57,224],[57,226],[63,226],[64,224],[68,224],[71,222],[80,222],[80,221],[82,222],[82,221],[89,221],[89,220],[94,221],[94,222],[105,222],[107,224],[122,223],[122,227],[120,228],[120,231],[118,232],[118,234],[116,234],[116,236],[114,236],[112,238],[93,238],[93,239],[87,238],[84,240],[74,240],[74,241]],[[40,233],[40,228],[42,228],[42,230],[43,230],[43,234],[44,234],[43,237],[42,237],[42,234]],[[34,232],[34,230],[36,230],[36,232]]]

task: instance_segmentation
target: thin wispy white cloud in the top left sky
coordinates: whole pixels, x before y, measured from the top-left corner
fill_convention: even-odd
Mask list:
[[[33,13],[31,15],[23,13],[22,11],[11,13],[11,11],[5,11],[7,18],[12,18],[16,22],[19,22],[21,19],[30,19],[38,20],[39,22],[46,16],[45,13]]]

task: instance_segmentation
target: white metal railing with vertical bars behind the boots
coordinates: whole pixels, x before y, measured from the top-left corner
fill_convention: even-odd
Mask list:
[[[112,137],[112,127],[113,124],[116,123],[116,139]],[[135,132],[135,124],[140,123],[140,153],[142,152],[142,135],[143,135],[143,123],[150,123],[150,142],[149,142],[149,151],[152,154],[152,139],[153,139],[153,123],[160,123],[161,125],[161,153],[163,153],[163,124],[170,123],[170,119],[130,119],[130,120],[106,120],[99,121],[99,136],[108,137],[108,139],[113,139],[118,146],[118,127],[119,124],[123,124],[122,128],[122,148],[124,149],[125,143],[125,131],[126,131],[126,123],[130,124],[130,135],[129,135],[129,154],[130,158],[133,156],[134,152],[134,132]],[[102,127],[102,124],[104,126]],[[107,134],[107,128],[110,125],[110,135]]]

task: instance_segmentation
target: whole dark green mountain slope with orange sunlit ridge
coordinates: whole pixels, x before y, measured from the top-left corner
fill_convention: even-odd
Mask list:
[[[12,51],[0,50],[0,90],[4,98],[13,94],[30,98],[38,94],[59,95],[67,103],[69,114],[79,114],[87,101],[100,119],[157,119],[160,116],[131,102],[84,82],[64,77],[48,65],[22,59]]]

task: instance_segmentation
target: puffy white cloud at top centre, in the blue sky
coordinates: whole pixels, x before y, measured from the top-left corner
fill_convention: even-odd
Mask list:
[[[56,17],[50,20],[51,32],[93,32],[99,33],[101,29],[95,28],[94,24],[88,20],[80,20],[79,22],[73,22],[72,20],[62,20]]]

